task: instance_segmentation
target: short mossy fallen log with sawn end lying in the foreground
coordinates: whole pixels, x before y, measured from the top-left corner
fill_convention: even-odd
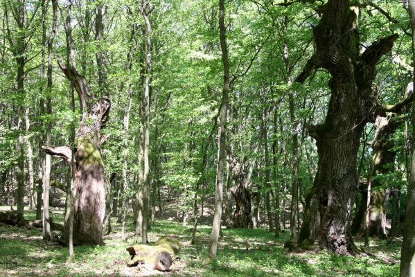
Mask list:
[[[171,235],[159,238],[154,245],[136,244],[127,248],[131,260],[127,262],[129,267],[147,265],[151,269],[166,271],[173,264],[173,255],[180,251],[179,241]]]

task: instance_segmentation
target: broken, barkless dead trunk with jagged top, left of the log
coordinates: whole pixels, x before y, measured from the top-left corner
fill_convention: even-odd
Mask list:
[[[73,64],[58,61],[60,69],[75,87],[82,109],[82,120],[76,132],[75,184],[73,195],[73,242],[76,244],[101,244],[105,215],[104,163],[100,145],[100,129],[106,123],[111,102],[109,98],[97,99],[84,76]],[[46,154],[62,157],[71,163],[71,149],[65,146],[44,146]],[[67,233],[66,231],[64,233]],[[64,240],[67,239],[64,237]]]

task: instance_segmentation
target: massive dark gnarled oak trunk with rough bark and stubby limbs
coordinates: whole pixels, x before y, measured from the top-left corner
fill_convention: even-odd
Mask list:
[[[376,64],[391,50],[397,35],[379,39],[359,52],[357,7],[349,1],[329,0],[313,34],[316,52],[296,82],[303,82],[317,68],[331,75],[331,97],[326,120],[312,126],[319,164],[315,183],[306,197],[306,214],[299,244],[318,244],[338,254],[357,250],[349,218],[357,188],[356,159],[364,125],[373,120],[376,92],[371,84]]]

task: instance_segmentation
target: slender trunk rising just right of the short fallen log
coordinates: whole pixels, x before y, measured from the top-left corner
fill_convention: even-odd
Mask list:
[[[215,212],[213,215],[213,226],[209,245],[209,257],[216,259],[218,249],[220,218],[222,217],[222,191],[223,191],[223,169],[226,162],[226,134],[227,134],[227,116],[229,105],[229,60],[227,48],[226,26],[224,24],[224,0],[219,0],[219,37],[220,49],[222,50],[223,63],[223,89],[220,108],[220,132],[218,138],[218,167],[216,168],[216,187],[215,187]]]

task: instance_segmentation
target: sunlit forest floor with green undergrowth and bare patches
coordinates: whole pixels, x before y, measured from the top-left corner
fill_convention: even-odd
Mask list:
[[[10,207],[0,207],[1,210]],[[62,214],[53,213],[55,222]],[[28,220],[35,213],[25,211]],[[0,224],[0,276],[398,276],[400,240],[387,244],[371,240],[367,251],[373,256],[335,256],[321,251],[290,253],[283,248],[289,233],[280,238],[266,229],[223,229],[217,262],[204,265],[211,227],[200,226],[195,245],[188,243],[191,226],[179,222],[157,220],[151,227],[149,240],[175,235],[182,250],[171,267],[161,273],[142,267],[127,267],[130,256],[125,248],[134,244],[134,225],[127,225],[130,239],[121,240],[121,224],[112,218],[113,231],[100,246],[75,247],[76,261],[67,262],[67,247],[42,241],[40,229],[19,228]],[[362,241],[357,240],[362,245]]]

